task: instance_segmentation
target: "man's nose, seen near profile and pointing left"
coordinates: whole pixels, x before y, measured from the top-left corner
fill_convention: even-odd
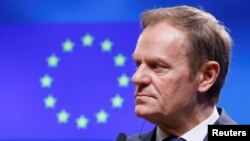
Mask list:
[[[150,83],[149,70],[146,65],[141,64],[132,76],[135,85],[148,85]]]

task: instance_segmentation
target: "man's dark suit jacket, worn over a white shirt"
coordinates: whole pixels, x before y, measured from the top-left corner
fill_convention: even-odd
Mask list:
[[[219,119],[215,122],[215,125],[232,125],[236,124],[229,115],[221,108],[217,108],[217,111],[220,115]],[[156,128],[150,132],[142,133],[139,137],[139,134],[128,137],[127,141],[155,141]],[[203,141],[207,141],[207,136]]]

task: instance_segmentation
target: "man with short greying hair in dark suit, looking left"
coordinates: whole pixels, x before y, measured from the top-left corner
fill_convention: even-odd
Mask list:
[[[135,113],[154,124],[129,141],[206,141],[207,125],[235,124],[216,108],[230,63],[231,37],[211,14],[190,6],[142,14],[133,53]],[[165,141],[165,140],[164,140]]]

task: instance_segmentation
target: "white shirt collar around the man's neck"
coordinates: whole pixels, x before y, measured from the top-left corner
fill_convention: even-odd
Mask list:
[[[212,114],[203,122],[189,130],[188,132],[184,133],[181,137],[187,141],[202,141],[208,132],[208,126],[214,124],[216,120],[219,118],[219,113],[214,106]],[[159,126],[156,129],[156,141],[162,141],[168,135],[164,133]]]

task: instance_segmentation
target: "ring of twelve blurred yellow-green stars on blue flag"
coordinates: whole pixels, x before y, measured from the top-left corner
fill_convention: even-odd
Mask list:
[[[86,33],[81,37],[82,47],[84,48],[93,47],[94,40],[95,38],[93,35]],[[111,52],[113,46],[114,43],[109,38],[104,39],[100,43],[101,51],[103,53]],[[72,53],[74,51],[74,48],[75,48],[75,43],[69,38],[62,43],[63,53]],[[57,56],[55,53],[53,53],[46,58],[46,61],[48,68],[57,68],[60,63],[60,57]],[[116,56],[113,57],[113,61],[115,67],[124,67],[126,63],[126,56],[124,56],[122,53],[118,53]],[[40,86],[41,88],[49,89],[52,87],[53,81],[54,79],[51,75],[44,74],[40,78]],[[126,88],[129,85],[130,78],[125,73],[123,73],[122,75],[117,77],[117,81],[119,87]],[[58,100],[54,96],[54,94],[50,93],[43,99],[44,107],[46,109],[54,109],[57,101]],[[112,108],[114,109],[122,108],[122,105],[124,103],[124,98],[121,97],[120,94],[115,94],[110,99],[110,102],[112,104]],[[56,117],[57,117],[57,122],[59,124],[67,124],[70,120],[70,113],[65,109],[61,109],[61,111],[57,112]],[[108,121],[109,113],[104,109],[100,109],[98,112],[96,112],[95,117],[96,117],[96,122],[98,124],[104,124]],[[84,114],[81,114],[75,119],[76,127],[78,129],[87,129],[89,122],[90,122],[89,118]]]

